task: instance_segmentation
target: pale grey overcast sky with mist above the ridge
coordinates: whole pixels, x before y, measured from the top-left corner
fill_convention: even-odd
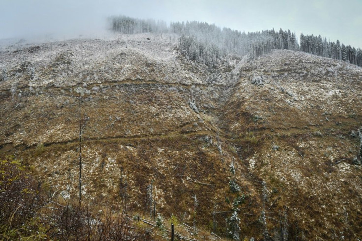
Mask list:
[[[110,15],[290,29],[362,48],[362,0],[0,0],[0,39],[101,37]]]

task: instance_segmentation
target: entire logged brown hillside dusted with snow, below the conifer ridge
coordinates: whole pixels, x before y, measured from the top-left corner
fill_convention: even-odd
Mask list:
[[[148,214],[153,183],[157,213],[219,236],[238,210],[240,237],[262,239],[264,207],[274,240],[279,221],[288,239],[362,239],[362,69],[288,50],[209,68],[176,41],[3,48],[0,158],[76,197],[81,95],[91,204]]]

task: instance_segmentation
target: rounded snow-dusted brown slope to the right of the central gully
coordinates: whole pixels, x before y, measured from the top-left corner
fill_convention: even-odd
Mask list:
[[[277,219],[286,215],[299,237],[361,236],[362,176],[354,164],[361,73],[349,64],[277,51],[241,68],[221,108],[225,135],[240,143],[248,171],[266,181],[269,211]],[[263,85],[251,84],[256,76]]]

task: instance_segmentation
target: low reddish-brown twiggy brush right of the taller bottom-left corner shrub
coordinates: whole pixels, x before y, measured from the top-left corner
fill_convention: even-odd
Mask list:
[[[48,235],[56,240],[151,240],[149,233],[133,227],[127,216],[112,211],[91,211],[85,204],[69,205],[52,212],[55,220]],[[96,213],[96,214],[94,214]]]

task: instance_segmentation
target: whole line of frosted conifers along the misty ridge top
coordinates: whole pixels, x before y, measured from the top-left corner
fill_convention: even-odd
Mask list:
[[[241,32],[220,28],[206,22],[171,22],[137,19],[126,16],[110,17],[110,29],[122,34],[171,33],[179,34],[181,53],[189,60],[214,66],[227,55],[249,55],[250,59],[271,52],[272,49],[302,51],[313,55],[343,60],[362,67],[362,50],[350,45],[322,39],[321,35],[300,35],[300,44],[290,30]]]

